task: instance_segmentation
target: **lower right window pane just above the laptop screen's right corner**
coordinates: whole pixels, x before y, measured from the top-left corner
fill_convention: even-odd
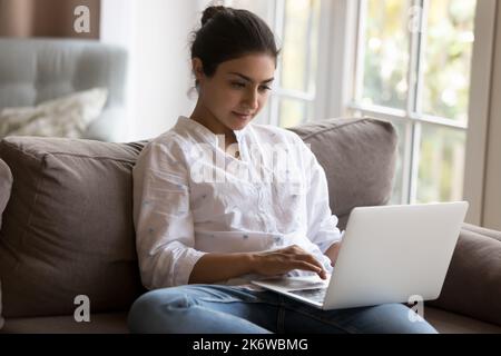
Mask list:
[[[418,202],[461,200],[466,132],[422,126]]]

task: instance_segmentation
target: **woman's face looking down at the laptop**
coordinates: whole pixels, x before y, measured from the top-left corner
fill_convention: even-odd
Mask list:
[[[265,106],[274,79],[275,60],[269,55],[255,53],[220,63],[213,77],[202,72],[202,62],[194,59],[199,81],[198,106],[216,134],[240,130]],[[198,112],[200,113],[200,112]]]

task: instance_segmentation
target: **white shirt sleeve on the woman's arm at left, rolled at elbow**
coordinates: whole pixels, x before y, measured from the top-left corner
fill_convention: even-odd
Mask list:
[[[134,225],[143,285],[148,289],[188,284],[204,255],[194,248],[188,170],[181,149],[153,141],[134,177]]]

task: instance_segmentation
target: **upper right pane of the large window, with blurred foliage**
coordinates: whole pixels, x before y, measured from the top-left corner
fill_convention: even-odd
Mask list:
[[[466,122],[477,0],[429,2],[423,110]]]

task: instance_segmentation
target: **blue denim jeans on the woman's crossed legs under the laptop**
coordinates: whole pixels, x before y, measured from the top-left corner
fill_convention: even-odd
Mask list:
[[[187,285],[140,296],[128,325],[132,333],[168,334],[436,333],[423,319],[411,322],[410,310],[402,304],[321,310],[245,286]]]

